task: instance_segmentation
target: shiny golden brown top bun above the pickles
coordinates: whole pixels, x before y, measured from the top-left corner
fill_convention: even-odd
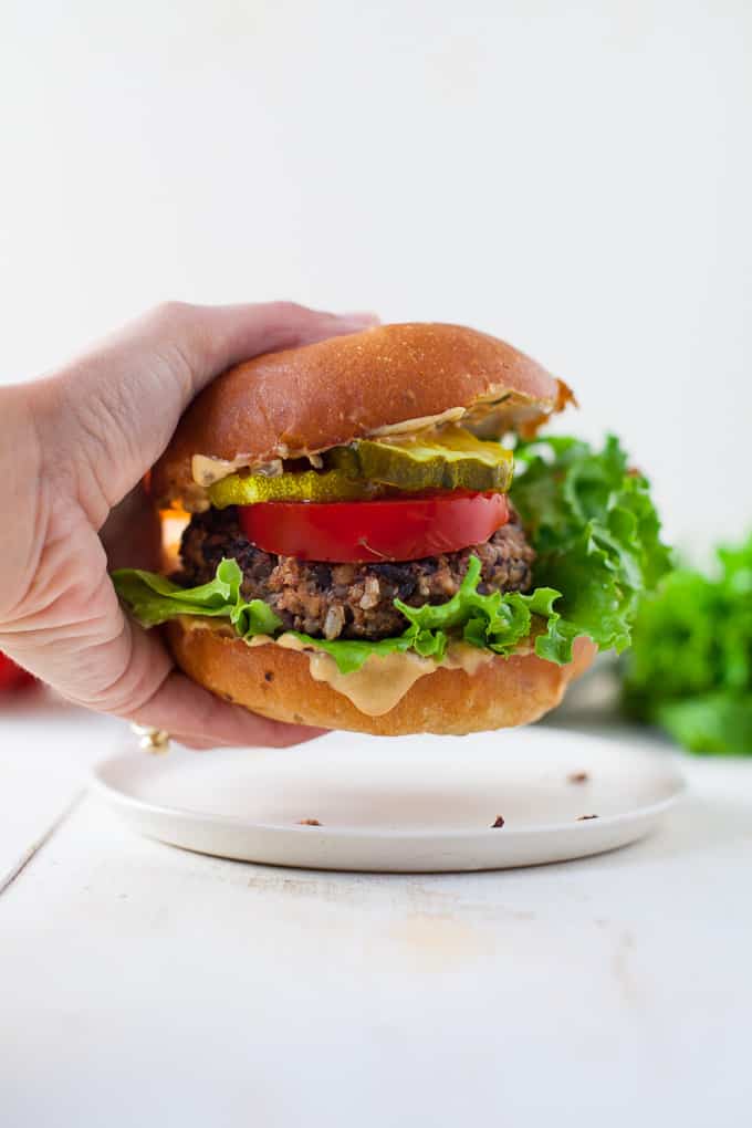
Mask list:
[[[511,395],[510,395],[511,393]],[[383,325],[267,353],[220,376],[191,405],[157,462],[152,494],[195,508],[194,455],[248,465],[316,452],[378,428],[465,407],[483,429],[525,433],[572,399],[511,345],[458,325]]]

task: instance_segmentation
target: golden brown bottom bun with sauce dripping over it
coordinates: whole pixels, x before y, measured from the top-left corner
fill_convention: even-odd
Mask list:
[[[593,643],[580,638],[569,666],[525,654],[493,659],[472,676],[440,668],[419,678],[389,713],[368,716],[326,682],[315,681],[304,653],[274,644],[251,647],[214,624],[195,629],[179,619],[168,624],[168,638],[188,677],[225,700],[276,721],[378,737],[462,735],[527,724],[558,705],[568,682],[595,655]]]

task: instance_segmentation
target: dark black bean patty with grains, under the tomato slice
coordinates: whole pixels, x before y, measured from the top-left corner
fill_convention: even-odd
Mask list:
[[[483,594],[527,591],[536,554],[514,511],[510,518],[490,540],[459,553],[398,564],[319,564],[256,548],[235,508],[211,509],[195,514],[183,534],[183,572],[175,579],[186,587],[206,583],[222,557],[231,556],[242,570],[244,596],[267,602],[286,629],[325,638],[387,638],[407,626],[395,598],[412,607],[445,602],[471,554],[480,559]]]

